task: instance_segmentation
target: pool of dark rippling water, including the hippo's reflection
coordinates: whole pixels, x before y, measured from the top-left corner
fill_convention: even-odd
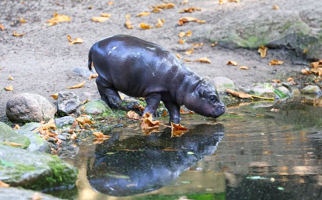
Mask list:
[[[276,109],[271,111],[271,109]],[[138,124],[80,144],[70,199],[322,199],[322,107],[251,103],[218,120],[183,115],[189,130],[146,136]],[[160,118],[166,122],[168,118]]]

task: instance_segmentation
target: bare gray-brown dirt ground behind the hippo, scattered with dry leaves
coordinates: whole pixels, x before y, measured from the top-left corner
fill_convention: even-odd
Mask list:
[[[216,23],[216,18],[225,18],[232,14],[231,6],[237,7],[238,3],[227,3],[223,6],[218,1],[193,1],[189,0],[187,5],[180,5],[181,1],[171,1],[175,8],[163,10],[160,13],[152,13],[149,16],[136,17],[143,11],[151,11],[149,6],[159,5],[160,0],[114,1],[108,5],[108,1],[11,1],[0,2],[1,16],[0,24],[5,30],[0,30],[0,121],[5,121],[5,109],[7,100],[15,94],[29,92],[40,94],[50,101],[54,101],[49,95],[59,91],[67,91],[68,86],[78,84],[86,80],[83,88],[72,89],[81,98],[83,92],[94,94],[99,98],[95,81],[88,81],[73,70],[75,68],[87,69],[88,50],[97,40],[114,35],[133,35],[154,43],[157,43],[174,54],[179,53],[186,59],[198,59],[206,57],[211,64],[200,62],[185,62],[185,64],[200,76],[224,76],[234,81],[235,85],[249,88],[257,82],[267,82],[272,79],[286,79],[290,76],[300,76],[302,64],[308,61],[296,57],[291,50],[269,50],[267,57],[262,59],[256,49],[225,49],[220,46],[211,47],[210,41],[205,40],[205,35],[195,35],[186,38],[184,44],[179,44],[178,33],[191,29],[203,29],[203,24],[190,22],[178,26],[178,19],[184,16],[192,16],[206,20],[206,23]],[[244,0],[248,5],[264,4],[274,5],[280,1],[253,1]],[[271,5],[269,5],[271,8]],[[89,7],[92,7],[89,9]],[[198,7],[202,11],[180,14],[178,10],[188,7]],[[243,4],[247,17],[247,4]],[[52,18],[53,13],[68,15],[72,17],[71,22],[58,23],[48,26],[46,21]],[[256,12],[252,10],[251,12]],[[92,17],[98,17],[101,13],[111,14],[110,19],[104,23],[91,21]],[[125,15],[131,15],[133,29],[124,27]],[[23,17],[27,23],[19,23]],[[142,30],[139,28],[141,22],[155,26],[157,19],[165,20],[160,28]],[[197,26],[197,27],[196,27]],[[209,26],[208,26],[209,27]],[[26,34],[22,37],[12,36],[13,31]],[[80,37],[84,40],[82,44],[69,45],[67,35],[72,38]],[[191,55],[185,55],[184,51],[192,48],[192,43],[204,42],[204,45],[195,49]],[[271,59],[284,60],[283,65],[270,66]],[[234,60],[239,66],[249,66],[249,70],[238,70],[238,66],[226,65],[228,60]],[[300,64],[299,64],[300,63]],[[12,76],[13,81],[8,77]],[[12,85],[14,91],[5,91],[3,88]]]

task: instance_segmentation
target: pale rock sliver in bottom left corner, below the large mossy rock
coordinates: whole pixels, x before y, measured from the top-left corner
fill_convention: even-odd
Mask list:
[[[21,189],[16,187],[0,187],[0,199],[6,200],[30,200],[31,197],[38,193],[42,198],[41,200],[62,200],[61,198],[57,198],[51,196],[49,194],[45,194],[39,191],[29,190],[29,189]]]

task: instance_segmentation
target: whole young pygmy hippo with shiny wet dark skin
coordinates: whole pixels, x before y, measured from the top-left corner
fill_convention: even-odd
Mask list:
[[[180,122],[181,105],[206,117],[216,118],[225,112],[214,86],[152,42],[129,35],[110,36],[91,47],[90,70],[92,61],[99,94],[111,108],[121,105],[120,91],[145,97],[144,113],[154,114],[162,101],[174,123]]]

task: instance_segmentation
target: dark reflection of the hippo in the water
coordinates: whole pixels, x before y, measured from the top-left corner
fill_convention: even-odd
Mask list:
[[[170,138],[170,128],[159,134],[123,140],[118,140],[119,134],[114,133],[110,140],[96,146],[94,163],[88,164],[87,179],[96,191],[112,196],[157,190],[213,154],[223,135],[221,124],[196,125],[174,138]]]

